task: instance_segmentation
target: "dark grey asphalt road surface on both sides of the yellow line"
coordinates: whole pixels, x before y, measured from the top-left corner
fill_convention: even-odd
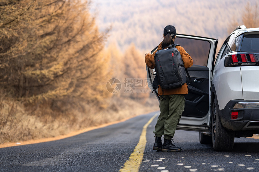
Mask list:
[[[0,171],[119,171],[155,113],[45,143],[0,148]],[[198,132],[176,130],[182,152],[152,150],[156,118],[148,125],[139,171],[259,171],[259,139],[235,138],[231,152],[199,143]]]

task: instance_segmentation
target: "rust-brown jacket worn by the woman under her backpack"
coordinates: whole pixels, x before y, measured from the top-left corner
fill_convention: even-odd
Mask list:
[[[191,67],[193,65],[193,60],[192,60],[191,56],[181,46],[176,46],[176,49],[179,50],[179,52],[180,52],[180,54],[182,56],[184,67],[186,69]],[[162,42],[158,45],[158,50],[162,50]],[[156,52],[157,52],[157,50],[154,51],[153,54],[148,53],[145,56],[145,62],[147,64],[148,68],[154,69],[154,67],[155,67],[154,56],[155,56]],[[185,83],[185,84],[183,84],[179,88],[163,89],[163,90],[162,90],[161,87],[159,87],[158,88],[158,94],[160,94],[160,95],[188,94],[188,86]]]

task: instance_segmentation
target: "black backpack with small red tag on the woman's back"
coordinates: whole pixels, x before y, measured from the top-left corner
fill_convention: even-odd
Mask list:
[[[187,69],[183,65],[180,52],[176,49],[178,44],[159,50],[154,56],[156,76],[152,83],[154,89],[159,85],[162,89],[174,89],[187,83],[186,74],[191,81]]]

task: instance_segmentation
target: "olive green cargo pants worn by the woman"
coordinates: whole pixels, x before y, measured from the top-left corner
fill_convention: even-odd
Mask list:
[[[165,139],[171,140],[182,116],[185,99],[184,94],[163,95],[163,97],[165,99],[160,98],[160,115],[153,132],[155,136],[164,135]]]

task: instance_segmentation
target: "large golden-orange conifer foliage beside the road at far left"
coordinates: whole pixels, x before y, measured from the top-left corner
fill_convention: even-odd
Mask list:
[[[107,32],[98,31],[88,2],[1,1],[1,88],[29,102],[107,96],[99,55]]]

